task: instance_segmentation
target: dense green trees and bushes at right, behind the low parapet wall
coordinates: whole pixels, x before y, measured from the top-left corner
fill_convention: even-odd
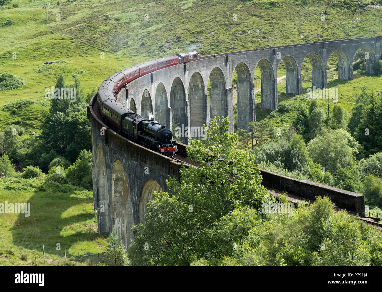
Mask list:
[[[283,104],[277,112],[293,109]],[[381,98],[363,86],[351,116],[338,104],[322,108],[314,99],[302,103],[291,124],[279,129],[271,119],[251,122],[249,132],[238,129],[239,145],[265,170],[361,192],[367,204],[382,207]],[[252,147],[259,137],[262,143]]]

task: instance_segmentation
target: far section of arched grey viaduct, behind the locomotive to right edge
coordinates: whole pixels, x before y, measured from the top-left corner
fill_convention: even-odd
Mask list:
[[[286,93],[301,95],[301,66],[308,57],[312,64],[312,86],[326,88],[326,67],[332,53],[338,58],[338,78],[351,80],[353,58],[359,49],[366,53],[366,72],[382,54],[382,36],[295,44],[201,57],[199,60],[168,67],[129,83],[118,101],[142,116],[154,115],[167,124],[202,127],[210,117],[228,116],[233,131],[233,71],[237,74],[237,126],[248,129],[256,120],[254,71],[261,70],[261,106],[275,110],[277,69],[286,67]],[[207,96],[210,80],[209,96]],[[184,141],[186,142],[186,141]]]

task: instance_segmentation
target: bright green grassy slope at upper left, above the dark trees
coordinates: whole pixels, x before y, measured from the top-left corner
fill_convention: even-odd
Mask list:
[[[74,82],[74,75],[78,75],[86,94],[98,88],[112,73],[148,59],[108,52],[105,52],[105,59],[101,59],[102,50],[69,36],[53,34],[47,28],[46,17],[46,10],[41,8],[0,11],[0,23],[8,19],[14,22],[0,28],[0,73],[8,71],[27,82],[21,89],[0,91],[0,109],[3,104],[18,98],[44,98],[45,88],[54,85],[61,73],[67,83]],[[16,52],[16,59],[13,59],[13,52]],[[45,61],[62,62],[44,65]],[[16,115],[0,110],[0,129],[21,119],[20,126],[26,129],[26,134],[38,133],[42,114],[46,111],[47,108],[40,105]]]

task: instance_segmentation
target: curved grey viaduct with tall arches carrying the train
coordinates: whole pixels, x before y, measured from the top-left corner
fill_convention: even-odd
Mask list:
[[[338,78],[351,80],[353,58],[359,49],[367,52],[366,72],[374,73],[372,65],[382,54],[382,36],[204,56],[139,77],[123,87],[116,98],[126,108],[142,116],[154,116],[155,120],[170,129],[173,126],[202,127],[203,124],[208,125],[210,117],[228,116],[230,131],[233,131],[231,79],[235,70],[238,79],[237,125],[238,128],[247,129],[248,122],[256,119],[253,79],[257,65],[261,70],[261,105],[275,110],[278,106],[277,69],[281,60],[286,67],[286,93],[301,95],[301,66],[305,57],[312,64],[312,86],[326,88],[326,65],[330,55],[333,52],[337,55]],[[209,80],[210,92],[207,96]],[[109,129],[100,119],[96,96],[88,106],[88,117],[92,130],[94,208],[98,214],[98,232],[115,229],[127,247],[133,238],[131,226],[144,220],[146,203],[152,198],[153,192],[167,191],[166,179],[178,178],[180,164]],[[186,139],[183,137],[183,142]],[[185,154],[184,149],[181,149],[178,155]],[[286,184],[291,183],[288,181],[284,185],[281,176],[267,172],[264,174],[267,183],[280,190],[286,189]],[[314,189],[315,193],[320,193],[320,190],[329,193],[330,189],[335,189],[314,183],[310,185],[319,188]],[[299,186],[295,185],[295,188]],[[304,192],[300,191],[301,194]],[[337,206],[342,204],[349,210],[362,212],[362,195],[338,189],[333,192],[337,192],[333,196],[345,198],[342,199],[343,204],[338,199]],[[356,197],[351,206],[345,202],[349,200],[348,196],[353,196],[353,199]]]

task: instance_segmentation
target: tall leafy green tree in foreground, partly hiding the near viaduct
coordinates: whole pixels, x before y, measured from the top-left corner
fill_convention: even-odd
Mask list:
[[[172,197],[161,192],[149,203],[145,224],[134,227],[128,251],[132,264],[187,265],[194,255],[231,254],[239,239],[234,234],[244,237],[256,221],[254,208],[267,194],[253,155],[236,150],[237,135],[228,127],[228,118],[216,117],[206,140],[190,141],[188,155],[199,168],[182,168],[179,181],[167,182]],[[228,226],[222,221],[225,216],[240,217],[240,226]],[[225,233],[227,229],[233,234]]]

